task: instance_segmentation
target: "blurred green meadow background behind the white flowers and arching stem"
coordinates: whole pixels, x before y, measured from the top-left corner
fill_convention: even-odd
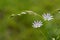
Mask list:
[[[0,40],[60,40],[60,0],[0,0]],[[34,20],[43,18],[23,14],[31,10],[39,15],[50,13],[54,19],[44,22],[40,28],[33,28]]]

